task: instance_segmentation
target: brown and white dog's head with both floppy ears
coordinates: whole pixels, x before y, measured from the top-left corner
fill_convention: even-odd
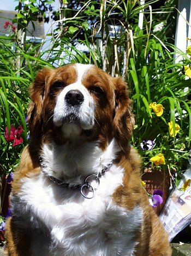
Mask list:
[[[116,138],[126,151],[134,117],[127,84],[93,65],[70,64],[41,70],[30,89],[31,139],[94,140],[100,147]]]

